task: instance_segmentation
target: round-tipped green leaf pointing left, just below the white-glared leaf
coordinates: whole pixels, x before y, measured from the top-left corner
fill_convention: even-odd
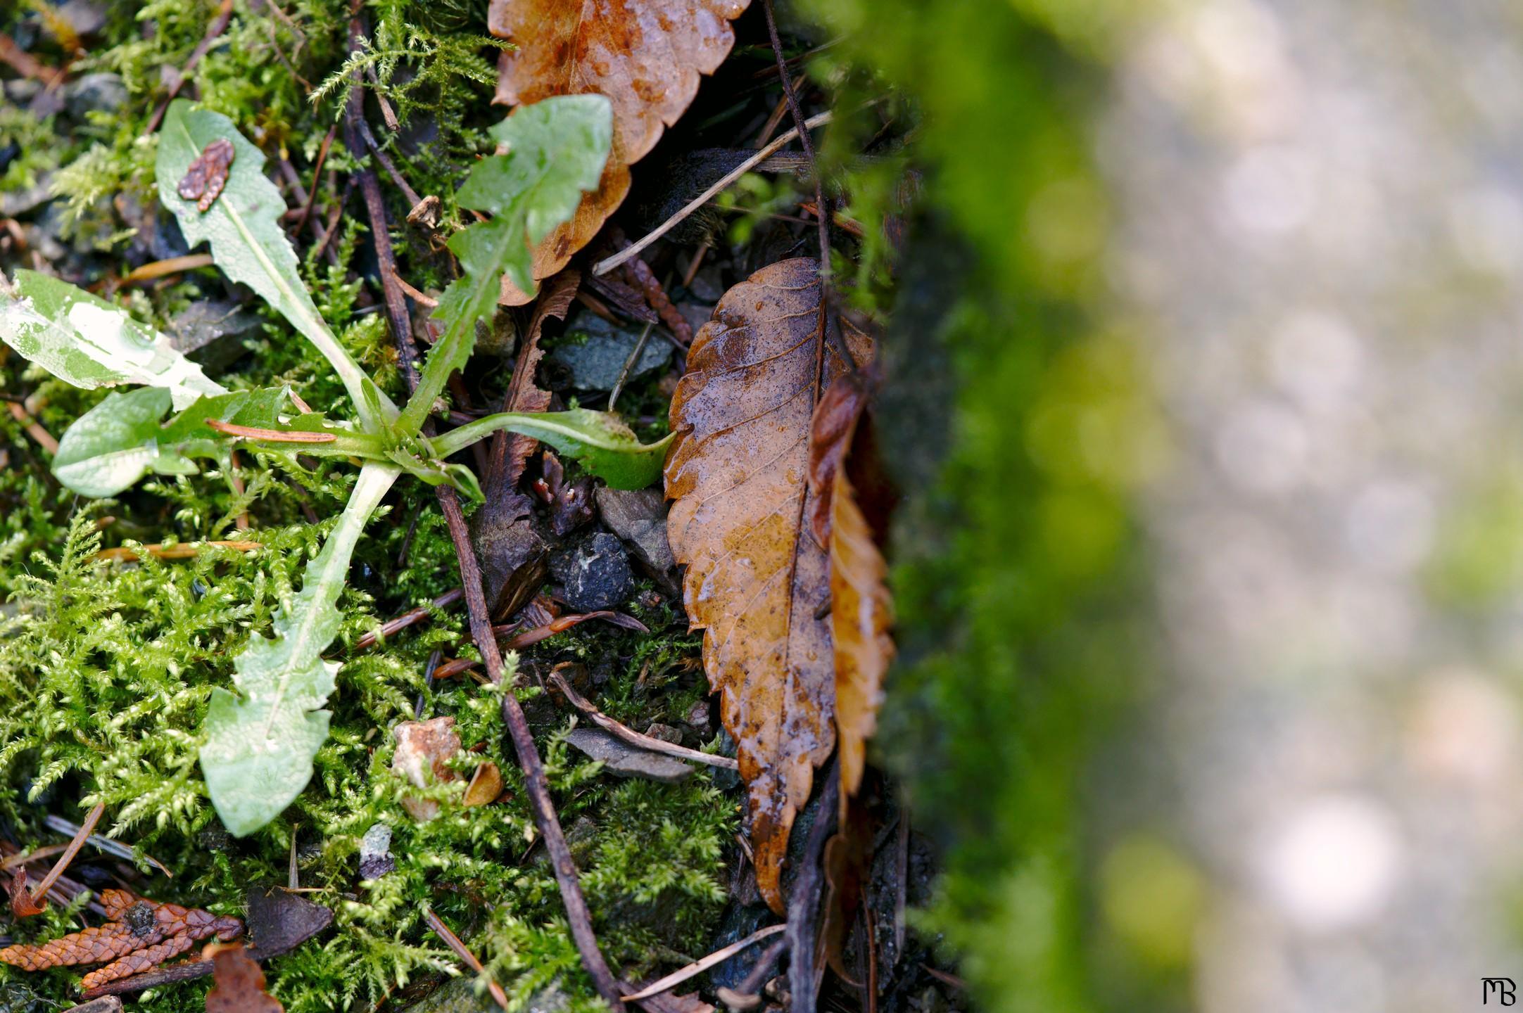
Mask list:
[[[192,457],[221,457],[231,442],[210,430],[207,419],[267,428],[279,422],[283,401],[283,387],[239,390],[201,398],[160,425],[171,391],[145,387],[108,395],[64,430],[53,474],[85,497],[114,497],[149,471],[193,475],[200,468]]]

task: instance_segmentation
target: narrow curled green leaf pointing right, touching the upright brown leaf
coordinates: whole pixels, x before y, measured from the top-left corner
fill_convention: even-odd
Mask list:
[[[614,489],[644,489],[661,477],[672,436],[641,443],[617,414],[571,408],[568,411],[504,411],[477,419],[434,437],[439,459],[465,449],[498,430],[522,433],[574,457],[588,472]]]

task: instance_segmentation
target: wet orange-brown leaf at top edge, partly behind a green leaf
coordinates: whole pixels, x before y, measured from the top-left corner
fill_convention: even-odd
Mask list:
[[[498,64],[496,101],[539,102],[553,94],[605,94],[614,104],[614,148],[599,189],[576,218],[535,250],[535,277],[559,271],[597,235],[629,192],[640,161],[698,94],[736,37],[730,21],[749,0],[492,0],[487,26],[512,40]],[[504,303],[527,302],[509,291]],[[516,297],[516,302],[513,302]]]

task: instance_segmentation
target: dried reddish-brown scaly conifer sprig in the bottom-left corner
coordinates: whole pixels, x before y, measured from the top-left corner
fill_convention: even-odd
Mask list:
[[[110,922],[46,943],[18,943],[0,949],[0,964],[23,970],[43,970],[64,964],[101,964],[81,981],[81,987],[104,986],[148,970],[177,957],[196,941],[216,935],[227,941],[244,932],[239,919],[215,916],[200,908],[158,903],[125,890],[105,890],[101,903]]]

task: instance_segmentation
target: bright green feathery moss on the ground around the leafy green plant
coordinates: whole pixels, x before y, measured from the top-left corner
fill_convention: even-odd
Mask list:
[[[483,43],[483,8],[448,0],[372,5],[366,14],[375,47],[350,64],[381,81],[396,76],[388,94],[404,133],[414,134],[393,155],[419,192],[443,198],[445,225],[457,218],[454,186],[486,143],[481,128],[501,116],[487,104],[495,69]],[[184,3],[105,9],[105,27],[76,55],[72,75],[119,75],[125,102],[110,111],[65,108],[43,120],[20,102],[0,104],[0,148],[15,142],[20,149],[0,175],[0,195],[52,186],[64,247],[53,267],[78,283],[119,277],[155,259],[148,241],[161,222],[151,213],[142,218],[142,209],[152,207],[154,139],[146,125],[163,97],[163,73],[184,64],[215,14],[215,5]],[[344,78],[335,75],[349,58],[349,5],[297,0],[276,11],[268,2],[238,0],[233,9],[228,44],[200,61],[186,91],[230,114],[271,155],[289,155],[311,186],[318,146],[340,113]],[[49,32],[55,15],[41,0],[8,8],[0,32],[30,32],[38,40],[34,53],[58,64],[69,41]],[[334,87],[312,101],[308,85],[317,91],[324,81]],[[324,187],[321,203],[350,168],[340,131],[315,181]],[[407,207],[390,181],[382,183],[401,221]],[[375,268],[362,219],[349,213],[338,228],[332,259],[326,251],[308,257],[317,305],[378,381],[399,393],[384,315],[373,312],[375,296],[364,291],[362,276]],[[446,280],[426,238],[402,235],[398,247],[405,277],[422,286]],[[6,259],[6,270],[32,267],[18,250]],[[133,288],[129,300],[140,318],[164,328],[192,302],[230,294],[215,270],[201,270]],[[341,387],[306,343],[273,312],[247,308],[263,326],[242,340],[219,381],[241,387],[283,379],[314,407],[341,405]],[[506,369],[477,379],[481,391],[500,390]],[[53,434],[101,396],[27,370],[14,356],[0,361],[0,390],[26,398]],[[631,390],[631,404],[646,402],[656,402],[650,390]],[[369,1010],[387,996],[394,1008],[411,995],[408,983],[457,973],[458,961],[423,925],[425,905],[515,999],[554,981],[573,1008],[594,1007],[554,877],[535,844],[516,762],[504,753],[495,690],[471,678],[425,685],[436,647],[469,655],[463,615],[440,612],[375,649],[352,649],[378,622],[460,582],[431,489],[404,480],[356,553],[341,602],[343,632],[330,652],[343,661],[332,731],[311,786],[282,818],[247,839],[228,839],[196,766],[207,696],[227,685],[241,643],[268,632],[274,608],[321,544],[326,521],[312,524],[308,515],[334,516],[353,469],[244,455],[242,494],[233,475],[213,469],[88,503],[58,486],[47,454],[8,411],[0,413],[0,455],[3,836],[24,848],[52,842],[56,835],[40,824],[46,812],[78,820],[105,803],[102,826],[174,871],[171,880],[145,865],[134,888],[219,912],[238,912],[250,885],[286,884],[294,845],[302,885],[315,888],[309,896],[337,916],[329,934],[268,969],[271,992],[294,1013]],[[263,547],[259,551],[207,548],[175,562],[96,559],[104,547],[235,538],[241,515],[250,518],[248,538]],[[538,644],[522,663],[548,667],[573,658],[600,666],[600,699],[612,713],[632,724],[676,719],[702,696],[702,675],[691,664],[698,643],[679,608],[635,611],[653,632],[582,628]],[[527,699],[539,690],[519,693]],[[478,749],[461,766],[498,763],[506,801],[463,807],[457,785],[439,789],[446,806],[431,823],[416,823],[401,807],[390,728],[413,717],[419,701],[425,717],[454,716],[465,746]],[[714,789],[704,771],[678,786],[600,774],[559,740],[568,711],[547,707],[539,716],[539,746],[562,821],[577,827],[582,882],[609,960],[640,975],[705,952],[725,903],[720,884],[736,848],[737,795]],[[393,830],[396,870],[359,882],[359,838],[375,823]],[[87,852],[82,861],[94,859]],[[3,932],[14,940],[52,937],[79,928],[72,914],[50,911]],[[40,1008],[69,1005],[75,981],[69,970],[0,967],[0,1007],[24,1008],[30,999],[50,1004]],[[206,983],[163,987],[134,1008],[200,1010],[204,990]]]

